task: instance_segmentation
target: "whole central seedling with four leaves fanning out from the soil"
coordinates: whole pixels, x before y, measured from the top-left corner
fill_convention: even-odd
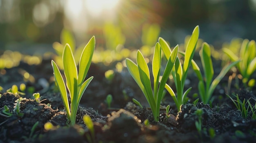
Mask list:
[[[168,55],[168,62],[164,69],[164,73],[162,75],[162,79],[159,82],[160,77],[160,69],[161,69],[161,47],[160,44],[157,42],[155,44],[155,51],[153,55],[153,62],[152,62],[152,71],[153,71],[153,91],[151,88],[150,82],[150,74],[148,65],[141,54],[141,52],[137,51],[137,64],[132,62],[132,60],[126,58],[126,66],[128,71],[132,75],[133,79],[135,79],[136,83],[139,85],[140,89],[144,93],[148,104],[153,112],[153,117],[155,121],[159,121],[159,110],[160,110],[160,103],[162,100],[162,93],[164,92],[164,86],[168,77],[171,73],[173,65],[175,63],[176,57],[178,53],[178,46],[176,46],[173,51],[170,51]]]

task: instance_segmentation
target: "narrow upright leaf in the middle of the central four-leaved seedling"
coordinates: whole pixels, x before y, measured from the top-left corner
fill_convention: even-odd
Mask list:
[[[161,48],[160,48],[160,44],[157,42],[157,44],[155,44],[155,51],[154,51],[153,62],[152,62],[155,101],[157,101],[157,89],[158,89],[158,83],[159,83],[160,69],[161,69]]]

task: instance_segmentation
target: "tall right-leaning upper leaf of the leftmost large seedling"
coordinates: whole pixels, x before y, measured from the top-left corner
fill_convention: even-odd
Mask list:
[[[93,36],[83,49],[79,62],[78,86],[81,86],[92,62],[92,55],[95,48],[95,37]]]

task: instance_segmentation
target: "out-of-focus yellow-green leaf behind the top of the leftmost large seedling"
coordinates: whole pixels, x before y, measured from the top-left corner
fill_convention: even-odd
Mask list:
[[[74,40],[72,33],[70,31],[68,31],[67,29],[63,29],[61,31],[61,44],[63,44],[63,45],[69,44],[72,52],[75,51],[76,42]]]

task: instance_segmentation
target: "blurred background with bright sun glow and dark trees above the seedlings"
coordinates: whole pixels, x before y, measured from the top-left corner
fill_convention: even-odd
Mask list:
[[[215,48],[234,37],[256,40],[256,0],[0,0],[0,53],[54,52],[63,29],[76,45],[95,35],[103,49],[153,46],[159,36],[175,46],[196,25]]]

